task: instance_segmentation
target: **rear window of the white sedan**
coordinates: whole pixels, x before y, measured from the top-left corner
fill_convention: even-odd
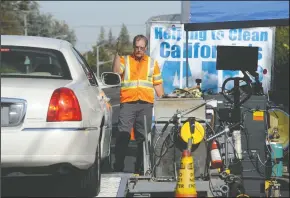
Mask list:
[[[1,77],[72,79],[58,50],[2,45],[0,63]]]

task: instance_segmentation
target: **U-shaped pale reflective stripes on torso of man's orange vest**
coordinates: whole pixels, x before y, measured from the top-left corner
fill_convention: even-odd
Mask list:
[[[147,70],[147,79],[146,80],[130,80],[130,58],[125,56],[125,71],[124,71],[124,80],[121,83],[121,89],[130,89],[130,88],[153,88],[153,71],[154,71],[154,60],[148,57],[148,70]]]

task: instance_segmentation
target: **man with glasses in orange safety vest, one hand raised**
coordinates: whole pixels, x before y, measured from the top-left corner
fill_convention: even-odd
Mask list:
[[[135,173],[142,171],[144,115],[147,129],[151,129],[154,91],[158,97],[164,94],[162,76],[157,61],[145,54],[148,40],[143,35],[133,39],[134,51],[128,56],[119,56],[113,63],[113,72],[121,75],[120,115],[118,134],[115,144],[114,171],[123,172],[126,150],[130,141],[130,132],[134,125],[138,149]]]

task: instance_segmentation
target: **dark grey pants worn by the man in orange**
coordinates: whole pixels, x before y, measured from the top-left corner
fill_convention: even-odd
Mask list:
[[[137,141],[137,154],[135,171],[141,168],[143,160],[143,141],[145,139],[144,115],[146,115],[147,132],[151,130],[153,104],[143,101],[120,104],[120,115],[118,122],[118,134],[115,144],[114,169],[122,172],[124,161],[130,141],[132,127],[135,131]]]

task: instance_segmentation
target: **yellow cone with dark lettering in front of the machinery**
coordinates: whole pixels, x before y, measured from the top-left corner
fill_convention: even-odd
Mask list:
[[[197,197],[194,179],[193,157],[189,150],[184,150],[182,152],[175,197]]]

